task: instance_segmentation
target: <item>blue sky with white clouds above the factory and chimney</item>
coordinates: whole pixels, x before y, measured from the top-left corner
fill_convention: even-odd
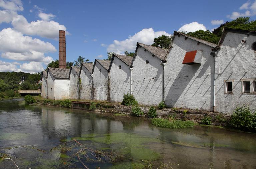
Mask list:
[[[35,1],[0,0],[0,71],[39,72],[58,59],[58,30],[67,61],[104,59],[108,51],[135,51],[136,42],[174,30],[212,30],[238,16],[255,18],[251,1]]]

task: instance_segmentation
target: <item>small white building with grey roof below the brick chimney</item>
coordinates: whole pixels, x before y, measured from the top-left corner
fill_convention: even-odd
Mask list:
[[[70,98],[70,69],[49,68],[47,72],[47,94],[49,99]]]

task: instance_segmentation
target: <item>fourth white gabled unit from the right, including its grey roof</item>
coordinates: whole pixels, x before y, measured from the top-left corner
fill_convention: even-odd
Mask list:
[[[131,93],[130,65],[133,57],[113,54],[109,66],[110,100],[122,102],[123,95]]]

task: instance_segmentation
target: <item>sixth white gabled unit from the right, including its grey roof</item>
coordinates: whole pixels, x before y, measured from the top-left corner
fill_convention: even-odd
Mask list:
[[[92,98],[92,69],[93,63],[83,63],[80,68],[80,79],[81,79],[81,89],[80,89],[80,99],[90,100]]]

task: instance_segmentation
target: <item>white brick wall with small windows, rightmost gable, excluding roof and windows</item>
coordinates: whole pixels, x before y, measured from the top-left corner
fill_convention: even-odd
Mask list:
[[[216,111],[231,114],[237,105],[256,109],[256,94],[241,93],[240,81],[256,78],[256,54],[251,49],[255,41],[253,35],[227,33],[216,57]],[[233,94],[224,94],[225,80],[234,81]]]

